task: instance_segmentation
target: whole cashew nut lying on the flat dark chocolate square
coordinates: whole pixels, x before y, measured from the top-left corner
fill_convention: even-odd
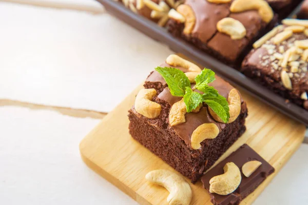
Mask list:
[[[224,174],[209,180],[209,192],[219,195],[228,195],[234,192],[241,183],[240,169],[233,162],[228,162],[223,167]]]

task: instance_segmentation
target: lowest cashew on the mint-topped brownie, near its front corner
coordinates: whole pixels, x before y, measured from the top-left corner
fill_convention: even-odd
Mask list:
[[[205,139],[214,139],[219,134],[219,128],[214,123],[204,123],[191,134],[191,148],[198,150],[201,148],[200,143]]]

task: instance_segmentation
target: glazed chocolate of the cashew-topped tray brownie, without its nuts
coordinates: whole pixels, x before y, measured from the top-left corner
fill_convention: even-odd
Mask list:
[[[184,33],[184,24],[171,18],[167,24],[168,31],[173,35],[181,36],[224,63],[238,68],[252,42],[273,28],[277,22],[277,16],[267,24],[263,22],[256,10],[230,12],[231,3],[215,4],[207,0],[186,0],[184,4],[192,9],[196,17],[194,29],[190,34]],[[241,39],[232,39],[229,35],[219,32],[217,23],[225,17],[238,20],[245,27],[246,36]]]

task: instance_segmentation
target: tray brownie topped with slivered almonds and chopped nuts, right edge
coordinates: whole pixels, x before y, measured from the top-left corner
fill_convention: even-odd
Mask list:
[[[254,44],[242,72],[287,100],[308,110],[307,20],[285,19]],[[303,26],[301,26],[303,25]]]

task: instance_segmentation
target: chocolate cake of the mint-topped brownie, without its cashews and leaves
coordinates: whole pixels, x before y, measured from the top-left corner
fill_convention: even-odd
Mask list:
[[[197,67],[196,65],[194,66],[195,68]],[[178,63],[167,64],[165,62],[161,67],[178,68],[184,72],[190,71],[187,65]],[[201,69],[197,68],[199,69],[198,72],[200,72]],[[191,84],[191,87],[194,87],[194,85]],[[206,105],[201,105],[200,110],[189,113],[186,113],[186,107],[184,106],[184,121],[178,124],[173,124],[173,121],[170,122],[169,119],[173,119],[170,118],[171,113],[174,113],[172,110],[177,105],[181,105],[183,97],[171,95],[166,81],[157,71],[151,72],[147,77],[144,89],[137,95],[135,104],[128,114],[131,136],[193,182],[197,181],[204,171],[214,165],[215,161],[234,144],[246,129],[244,124],[247,107],[239,92],[219,76],[216,76],[216,80],[208,85],[217,89],[218,93],[226,99],[230,98],[231,94],[229,93],[231,92],[234,93],[235,91],[236,95],[238,95],[239,104],[237,107],[239,113],[235,116],[233,122],[229,121],[228,124],[224,124],[215,120]],[[151,95],[148,93],[147,97],[152,100],[150,104],[154,104],[155,109],[152,109],[154,111],[152,114],[154,115],[142,114],[142,110],[137,111],[140,110],[140,108],[136,108],[137,106],[140,107],[140,104],[137,104],[139,95],[141,92],[146,91],[152,92]],[[146,105],[146,103],[143,105]],[[161,110],[158,112],[159,108]],[[180,109],[176,110],[176,115],[178,113],[181,114]],[[176,119],[179,118],[180,115]],[[217,137],[203,140],[199,149],[192,148],[192,135],[200,126],[204,125],[215,127],[218,132]]]

